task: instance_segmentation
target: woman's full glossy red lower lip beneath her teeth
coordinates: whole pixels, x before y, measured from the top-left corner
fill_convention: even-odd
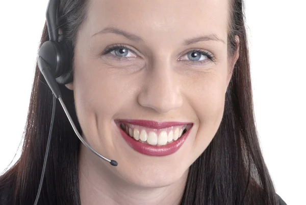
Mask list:
[[[117,124],[117,123],[116,123]],[[186,141],[188,134],[190,133],[191,128],[183,135],[181,138],[178,140],[164,146],[153,146],[153,145],[148,145],[144,144],[141,142],[136,141],[134,138],[131,136],[127,135],[117,124],[117,127],[123,136],[123,139],[127,142],[130,147],[132,147],[135,151],[145,154],[145,155],[150,155],[150,156],[167,156],[170,154],[173,154],[177,150],[180,149],[180,147],[183,145],[183,143]]]

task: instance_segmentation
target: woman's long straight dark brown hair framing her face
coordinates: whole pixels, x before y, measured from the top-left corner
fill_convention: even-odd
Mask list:
[[[265,165],[256,130],[243,0],[229,0],[228,59],[239,48],[239,59],[225,96],[221,124],[207,149],[191,165],[182,205],[277,204],[277,195]],[[88,1],[65,0],[59,8],[59,26],[73,48],[86,19]],[[235,35],[240,43],[235,41]],[[40,46],[48,40],[44,25]],[[73,92],[60,85],[63,100],[78,129]],[[48,138],[53,96],[36,63],[21,157],[0,176],[8,204],[34,203]],[[57,101],[53,139],[39,204],[80,205],[78,157],[80,141]]]

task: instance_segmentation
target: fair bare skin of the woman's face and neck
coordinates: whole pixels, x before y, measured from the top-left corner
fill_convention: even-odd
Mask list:
[[[179,204],[189,166],[221,123],[238,59],[239,51],[227,58],[227,15],[226,0],[90,1],[75,47],[74,81],[66,86],[74,92],[82,135],[118,166],[81,146],[82,205]],[[143,42],[115,33],[94,35],[106,27],[138,35]],[[210,34],[223,42],[182,44]],[[120,43],[137,54],[129,51],[130,59],[120,61],[115,51],[101,55]],[[193,64],[187,54],[194,49],[213,54],[215,62],[203,55],[196,60],[202,64]],[[177,152],[147,156],[126,144],[115,119],[190,122],[193,128]]]

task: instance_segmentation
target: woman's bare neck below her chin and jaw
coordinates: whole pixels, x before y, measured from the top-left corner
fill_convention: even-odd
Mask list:
[[[179,205],[186,186],[188,171],[175,183],[158,188],[131,184],[112,171],[111,165],[102,162],[81,145],[79,158],[79,184],[82,205]]]

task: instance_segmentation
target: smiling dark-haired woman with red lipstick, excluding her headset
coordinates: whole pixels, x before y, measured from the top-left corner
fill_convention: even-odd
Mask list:
[[[73,48],[63,101],[118,166],[57,102],[38,204],[286,204],[254,125],[242,0],[63,0],[58,24]],[[1,204],[34,204],[52,99],[37,65]]]

